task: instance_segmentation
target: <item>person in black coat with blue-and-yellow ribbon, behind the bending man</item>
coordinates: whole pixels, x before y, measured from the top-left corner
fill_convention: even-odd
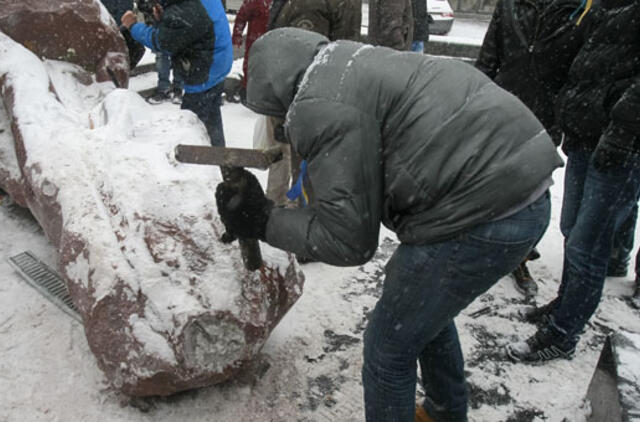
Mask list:
[[[593,10],[583,12],[580,0],[500,0],[476,61],[479,70],[533,111],[556,144],[562,131],[553,112],[555,99],[592,24]],[[528,259],[538,257],[534,250]],[[530,300],[538,286],[526,262],[513,276]]]

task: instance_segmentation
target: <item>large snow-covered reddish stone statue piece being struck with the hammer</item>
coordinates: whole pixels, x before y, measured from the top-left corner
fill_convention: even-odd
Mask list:
[[[303,276],[266,244],[263,267],[247,272],[237,245],[218,241],[219,170],[173,156],[180,142],[208,144],[194,114],[91,81],[0,33],[0,119],[13,135],[0,134],[0,187],[22,196],[58,248],[114,386],[167,395],[227,379],[300,296]]]

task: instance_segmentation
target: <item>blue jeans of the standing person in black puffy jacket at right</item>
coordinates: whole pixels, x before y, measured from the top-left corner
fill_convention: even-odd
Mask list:
[[[575,341],[600,302],[613,236],[640,193],[640,156],[626,167],[598,171],[591,155],[567,154],[560,217],[564,263],[551,327]]]

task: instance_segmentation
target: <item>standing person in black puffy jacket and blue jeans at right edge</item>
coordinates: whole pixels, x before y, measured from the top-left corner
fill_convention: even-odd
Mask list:
[[[556,101],[567,154],[555,299],[525,314],[540,328],[507,347],[515,360],[570,358],[602,296],[613,236],[640,194],[640,2],[603,11]]]

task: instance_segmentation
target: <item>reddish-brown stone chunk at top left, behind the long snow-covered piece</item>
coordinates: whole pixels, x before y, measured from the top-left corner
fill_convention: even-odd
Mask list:
[[[64,60],[120,86],[129,80],[129,55],[118,24],[98,0],[0,0],[0,31],[39,57]]]

